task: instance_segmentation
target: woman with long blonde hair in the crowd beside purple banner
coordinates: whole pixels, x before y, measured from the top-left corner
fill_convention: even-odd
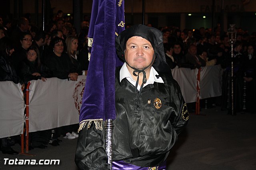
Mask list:
[[[78,38],[70,35],[66,38],[66,45],[67,45],[67,53],[71,60],[71,63],[76,68],[76,72],[79,75],[82,75],[81,64],[78,61]]]

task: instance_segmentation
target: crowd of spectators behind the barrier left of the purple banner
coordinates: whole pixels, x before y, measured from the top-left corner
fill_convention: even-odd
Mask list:
[[[0,19],[0,81],[20,83],[24,91],[30,80],[45,82],[47,78],[57,77],[76,81],[78,75],[86,74],[89,65],[87,20],[81,22],[81,33],[77,33],[70,18],[63,16],[61,10],[45,30],[30,24],[25,17],[16,25]],[[77,129],[78,125],[70,125],[30,133],[29,149],[45,149],[46,144],[58,146],[61,135],[75,139]],[[0,142],[2,153],[18,154],[11,145],[20,143],[19,137],[3,138]]]

